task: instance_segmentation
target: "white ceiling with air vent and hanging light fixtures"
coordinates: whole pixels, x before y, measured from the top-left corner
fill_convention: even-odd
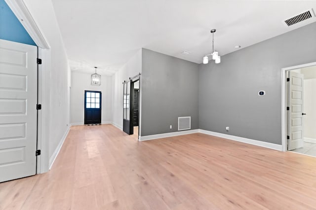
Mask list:
[[[311,8],[303,0],[52,0],[72,70],[112,75],[140,48],[195,63],[315,22],[284,20]],[[189,55],[182,54],[189,51]],[[222,59],[225,62],[225,59]]]

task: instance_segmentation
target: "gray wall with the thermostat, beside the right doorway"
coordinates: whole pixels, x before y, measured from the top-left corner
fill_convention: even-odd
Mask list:
[[[200,64],[199,128],[281,144],[281,68],[315,61],[313,23]]]

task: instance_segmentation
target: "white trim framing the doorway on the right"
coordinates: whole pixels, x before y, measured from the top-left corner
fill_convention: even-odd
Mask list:
[[[302,69],[306,67],[316,66],[316,62],[302,64],[298,66],[286,67],[281,69],[281,138],[282,138],[282,151],[287,151],[287,142],[286,142],[286,71]]]

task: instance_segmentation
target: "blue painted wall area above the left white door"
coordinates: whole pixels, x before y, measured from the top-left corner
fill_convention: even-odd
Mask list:
[[[0,0],[0,39],[36,46],[4,0]]]

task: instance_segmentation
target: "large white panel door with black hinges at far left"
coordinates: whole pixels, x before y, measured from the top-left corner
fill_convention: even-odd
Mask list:
[[[36,174],[37,47],[0,39],[0,182]]]

